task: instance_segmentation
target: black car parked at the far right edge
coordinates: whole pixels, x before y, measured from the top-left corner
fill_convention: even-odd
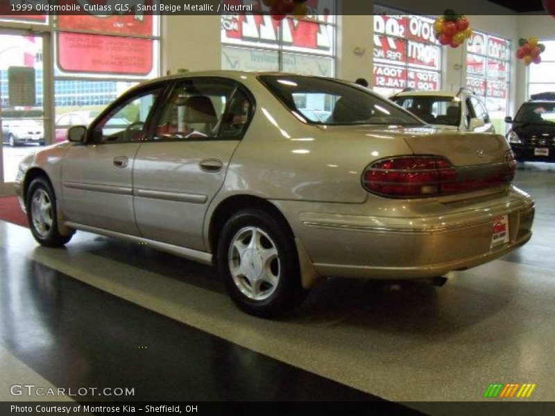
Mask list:
[[[555,162],[555,93],[534,94],[522,104],[507,133],[518,162]]]

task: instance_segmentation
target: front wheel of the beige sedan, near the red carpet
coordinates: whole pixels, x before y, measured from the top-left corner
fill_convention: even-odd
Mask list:
[[[31,182],[26,198],[27,219],[35,240],[46,247],[62,247],[74,233],[62,235],[58,231],[56,194],[46,178]]]

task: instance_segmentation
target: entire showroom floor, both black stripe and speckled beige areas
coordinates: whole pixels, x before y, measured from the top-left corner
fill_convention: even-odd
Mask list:
[[[536,199],[517,252],[442,288],[334,279],[275,322],[237,311],[206,266],[85,232],[42,248],[0,221],[0,401],[17,399],[15,381],[148,400],[391,401],[476,401],[514,382],[554,401],[555,165],[526,164],[515,182]]]

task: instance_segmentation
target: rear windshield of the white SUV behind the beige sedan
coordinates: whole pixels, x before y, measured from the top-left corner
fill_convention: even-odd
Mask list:
[[[393,101],[429,124],[459,125],[461,99],[442,96],[401,96]]]

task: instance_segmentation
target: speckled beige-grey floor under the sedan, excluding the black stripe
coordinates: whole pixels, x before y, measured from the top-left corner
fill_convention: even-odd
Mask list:
[[[489,383],[516,382],[537,384],[529,400],[555,401],[555,166],[526,164],[515,182],[537,202],[534,236],[518,252],[454,272],[442,288],[334,279],[275,322],[237,311],[211,268],[139,245],[79,232],[52,250],[0,222],[0,248],[384,399],[479,401]],[[26,371],[8,361],[4,379]]]

